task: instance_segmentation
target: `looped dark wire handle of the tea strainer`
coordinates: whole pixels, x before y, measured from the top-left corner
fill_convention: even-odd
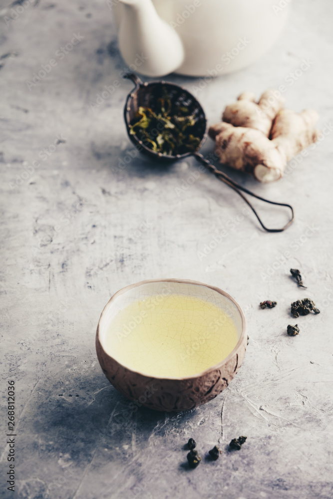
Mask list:
[[[203,165],[205,165],[207,168],[209,168],[213,173],[214,175],[219,179],[221,180],[221,182],[224,182],[225,184],[227,184],[229,187],[231,187],[234,191],[237,192],[237,194],[239,194],[241,196],[241,198],[244,199],[244,201],[249,205],[249,207],[251,208],[251,210],[253,211],[253,213],[255,214],[255,216],[257,217],[260,225],[262,226],[262,228],[267,231],[267,232],[283,232],[285,231],[293,222],[294,222],[294,210],[293,210],[293,207],[291,205],[288,205],[287,203],[277,203],[275,201],[270,201],[268,199],[265,199],[265,198],[262,198],[261,196],[257,196],[257,194],[254,194],[253,192],[249,191],[249,189],[246,189],[245,187],[241,186],[240,184],[237,184],[237,182],[235,182],[234,180],[232,180],[230,177],[228,177],[228,175],[226,175],[225,173],[221,172],[220,170],[218,170],[214,165],[212,165],[208,160],[206,160],[202,154],[200,153],[195,153],[194,156],[197,158],[198,161],[200,161],[200,163],[202,163]],[[246,194],[249,194],[250,196],[253,196],[254,198],[257,198],[257,199],[260,199],[261,201],[264,201],[265,203],[270,203],[271,205],[278,205],[278,206],[286,206],[287,208],[290,208],[291,212],[292,212],[292,218],[290,219],[290,221],[284,226],[282,227],[281,229],[268,229],[264,224],[263,222],[261,221],[258,213],[256,212],[256,210],[254,209],[254,207],[252,206],[252,204],[250,203],[250,201],[241,193],[241,191],[245,192]]]

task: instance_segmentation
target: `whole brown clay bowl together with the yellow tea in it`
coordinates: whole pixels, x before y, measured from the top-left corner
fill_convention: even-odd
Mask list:
[[[192,409],[235,377],[246,350],[244,314],[221,289],[181,279],[127,286],[106,304],[96,352],[112,385],[159,411]]]

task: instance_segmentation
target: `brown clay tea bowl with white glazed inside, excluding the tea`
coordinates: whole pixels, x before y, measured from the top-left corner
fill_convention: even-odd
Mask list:
[[[110,349],[105,347],[105,338],[106,335],[113,334],[112,319],[116,314],[135,300],[163,296],[168,292],[208,300],[232,318],[236,325],[238,342],[226,358],[195,375],[175,378],[138,372],[112,356]],[[129,400],[157,411],[184,411],[205,404],[227,388],[241,367],[247,338],[243,311],[225,291],[184,279],[145,280],[120,289],[105,305],[96,331],[96,352],[105,376]],[[160,362],[163,362],[163,358]]]

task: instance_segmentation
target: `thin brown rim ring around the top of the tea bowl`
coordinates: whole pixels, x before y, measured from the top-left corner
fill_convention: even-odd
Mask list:
[[[204,287],[208,287],[210,289],[213,289],[213,291],[216,291],[216,292],[222,294],[223,296],[225,296],[226,298],[228,298],[236,306],[236,308],[238,310],[238,313],[240,314],[241,320],[242,320],[242,331],[241,331],[241,335],[239,337],[237,345],[232,350],[232,352],[230,352],[230,354],[227,357],[225,357],[218,364],[215,364],[214,366],[208,367],[204,371],[201,371],[199,373],[193,374],[192,376],[169,377],[169,378],[166,378],[165,376],[152,376],[150,374],[147,374],[147,373],[144,373],[144,372],[141,372],[141,371],[133,371],[133,369],[130,369],[128,366],[122,364],[121,362],[119,362],[114,357],[111,357],[111,355],[109,355],[104,350],[104,346],[103,346],[103,344],[101,342],[101,339],[100,339],[100,336],[99,336],[99,325],[100,325],[100,322],[101,322],[101,319],[102,319],[103,315],[105,315],[106,310],[111,306],[112,302],[119,295],[124,294],[126,291],[129,291],[130,289],[133,289],[134,287],[138,287],[138,286],[141,286],[143,284],[150,284],[152,282],[177,282],[179,284],[194,284],[194,285],[197,285],[197,286],[204,286]],[[145,376],[145,377],[151,378],[151,379],[167,379],[167,380],[179,380],[179,381],[183,381],[183,380],[196,379],[196,378],[204,376],[204,375],[206,375],[206,374],[208,374],[208,373],[210,373],[212,371],[216,371],[218,369],[221,369],[223,367],[223,365],[227,364],[227,362],[229,362],[229,360],[235,355],[235,353],[237,353],[237,350],[240,348],[241,344],[243,343],[244,337],[245,337],[246,334],[247,334],[247,324],[246,324],[246,319],[245,319],[243,310],[242,310],[241,306],[237,303],[237,301],[229,293],[227,293],[226,291],[223,291],[223,289],[220,289],[219,287],[211,286],[210,284],[205,284],[204,282],[190,280],[190,279],[170,278],[170,279],[147,279],[147,280],[143,280],[143,281],[140,281],[140,282],[135,282],[134,284],[130,284],[128,286],[125,286],[125,287],[119,289],[119,291],[117,291],[116,293],[114,293],[111,296],[111,298],[109,299],[109,301],[106,303],[105,307],[102,310],[102,313],[100,314],[99,321],[98,321],[98,324],[97,324],[97,330],[96,330],[96,339],[98,340],[98,342],[99,342],[99,344],[100,344],[103,352],[105,353],[105,355],[107,357],[109,357],[110,359],[116,361],[119,365],[121,365],[124,369],[127,369],[128,371],[131,371],[131,372],[136,373],[136,374],[140,374],[142,376]]]

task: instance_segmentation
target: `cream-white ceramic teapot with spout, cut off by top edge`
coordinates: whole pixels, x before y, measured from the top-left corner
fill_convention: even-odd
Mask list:
[[[108,0],[125,62],[147,76],[217,76],[251,64],[279,36],[291,0]],[[139,58],[138,58],[139,57]],[[136,64],[135,61],[140,61]]]

